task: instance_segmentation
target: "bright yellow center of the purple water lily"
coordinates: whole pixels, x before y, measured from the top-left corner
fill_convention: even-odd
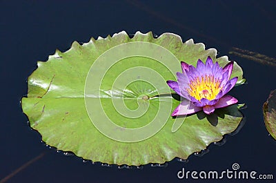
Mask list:
[[[221,81],[213,75],[197,77],[195,80],[190,81],[188,93],[199,101],[202,98],[212,100],[215,99],[221,90],[220,83]]]

